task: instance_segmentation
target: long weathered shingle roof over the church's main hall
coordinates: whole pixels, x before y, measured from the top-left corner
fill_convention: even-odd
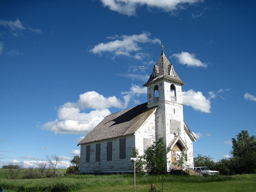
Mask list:
[[[110,114],[104,118],[82,141],[86,144],[110,138],[134,134],[156,107],[148,108],[148,103]]]

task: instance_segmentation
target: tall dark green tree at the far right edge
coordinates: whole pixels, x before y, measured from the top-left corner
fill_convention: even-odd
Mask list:
[[[236,174],[256,173],[256,138],[242,130],[232,138],[232,161]]]

